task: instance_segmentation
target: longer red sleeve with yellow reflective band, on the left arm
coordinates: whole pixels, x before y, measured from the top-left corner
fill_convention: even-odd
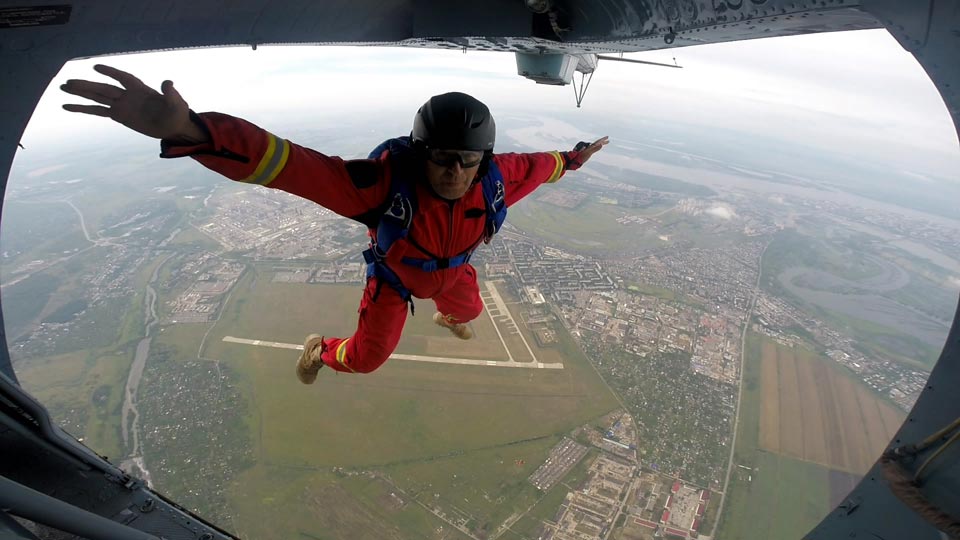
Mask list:
[[[344,161],[233,116],[202,113],[193,117],[209,132],[210,142],[173,146],[162,141],[161,157],[190,156],[231,180],[281,189],[348,218],[364,216],[387,197],[386,160]]]

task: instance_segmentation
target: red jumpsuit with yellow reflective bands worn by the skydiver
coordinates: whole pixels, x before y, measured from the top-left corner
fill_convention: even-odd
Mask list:
[[[197,146],[162,143],[162,157],[191,156],[231,180],[287,191],[368,226],[383,212],[382,204],[390,194],[388,159],[344,161],[220,113],[203,113],[194,116],[194,121],[206,127],[211,142]],[[494,154],[493,160],[503,175],[507,206],[540,184],[556,182],[565,171],[579,167],[578,158],[576,151]],[[437,197],[422,182],[416,186],[416,200],[409,234],[433,255],[457,256],[483,238],[486,207],[479,182],[456,201]],[[472,266],[425,272],[402,263],[404,256],[432,257],[406,239],[394,242],[387,254],[388,266],[413,296],[433,299],[440,313],[458,323],[471,321],[483,311]],[[371,372],[389,358],[400,340],[407,304],[385,283],[376,294],[377,282],[375,277],[367,281],[353,336],[324,340],[321,357],[337,371]]]

